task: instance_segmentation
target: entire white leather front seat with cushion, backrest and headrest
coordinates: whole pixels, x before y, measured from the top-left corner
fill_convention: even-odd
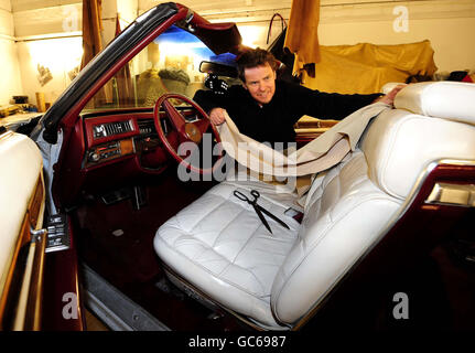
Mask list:
[[[291,328],[380,239],[430,162],[475,159],[475,85],[413,84],[395,106],[313,180],[302,224],[283,214],[295,195],[268,192],[259,204],[291,228],[269,221],[269,236],[233,195],[266,186],[223,182],[159,228],[159,257],[218,304],[262,328]]]

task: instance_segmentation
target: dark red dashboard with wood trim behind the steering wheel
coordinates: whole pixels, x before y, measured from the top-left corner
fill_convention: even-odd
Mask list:
[[[198,118],[190,106],[176,107],[186,121]],[[161,113],[160,124],[169,142],[177,149],[180,137]],[[85,113],[77,120],[58,168],[55,184],[67,207],[87,195],[100,195],[123,185],[155,178],[174,159],[160,140],[152,108],[131,108]]]

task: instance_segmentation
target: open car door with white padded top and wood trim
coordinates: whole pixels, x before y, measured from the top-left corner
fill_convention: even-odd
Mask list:
[[[26,136],[8,131],[0,164],[0,327],[37,330],[46,244],[42,157]]]

